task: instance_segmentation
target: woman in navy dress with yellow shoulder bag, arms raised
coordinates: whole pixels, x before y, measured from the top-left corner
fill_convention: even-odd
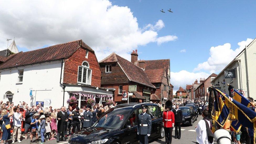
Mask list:
[[[8,144],[7,141],[11,138],[11,129],[10,128],[6,129],[6,125],[10,124],[10,116],[13,115],[13,107],[10,109],[9,114],[7,114],[7,110],[3,109],[1,115],[3,117],[3,126],[2,126],[3,136],[2,136],[1,144],[4,143],[4,141]]]

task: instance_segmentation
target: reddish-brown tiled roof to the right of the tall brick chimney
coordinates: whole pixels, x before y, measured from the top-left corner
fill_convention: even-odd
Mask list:
[[[145,72],[148,75],[148,78],[151,80],[151,83],[162,82],[164,72],[167,68],[169,68],[170,59],[143,61],[145,62]],[[134,64],[138,66],[138,63],[139,61],[135,62]]]

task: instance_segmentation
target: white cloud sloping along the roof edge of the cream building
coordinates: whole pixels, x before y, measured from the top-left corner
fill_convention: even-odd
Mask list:
[[[239,47],[235,50],[231,49],[231,44],[212,46],[210,48],[210,57],[207,61],[199,63],[194,71],[206,70],[211,73],[222,70],[228,65],[253,39],[247,38],[246,41],[238,42]]]

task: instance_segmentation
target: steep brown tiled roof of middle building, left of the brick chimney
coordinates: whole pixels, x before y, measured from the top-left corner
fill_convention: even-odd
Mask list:
[[[126,60],[125,58],[120,57],[114,52],[108,57],[104,58],[99,63],[105,63],[105,62],[118,62],[120,67],[122,68],[122,70],[124,71],[124,73],[126,74],[126,76],[130,81],[155,88],[155,86],[152,85],[147,74],[141,68],[135,66],[133,63]]]

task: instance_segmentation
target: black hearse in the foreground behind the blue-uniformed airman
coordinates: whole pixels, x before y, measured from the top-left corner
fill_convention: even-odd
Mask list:
[[[148,106],[147,113],[152,118],[149,140],[163,138],[163,117],[159,106],[153,103],[129,103],[117,105],[106,111],[92,127],[73,134],[69,144],[138,143],[137,118],[142,111],[141,104]]]

